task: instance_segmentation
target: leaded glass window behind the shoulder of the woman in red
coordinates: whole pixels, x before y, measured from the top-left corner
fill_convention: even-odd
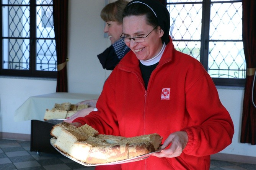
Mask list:
[[[166,0],[176,50],[201,61],[216,85],[243,85],[241,0]]]

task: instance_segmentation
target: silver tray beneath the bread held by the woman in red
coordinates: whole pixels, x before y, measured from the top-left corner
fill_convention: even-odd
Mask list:
[[[61,152],[58,148],[56,148],[54,146],[54,140],[56,140],[56,138],[51,138],[50,140],[50,143],[51,145],[58,151],[60,152],[62,155],[64,155],[65,157],[68,157],[69,159],[81,164],[81,165],[84,165],[86,167],[93,167],[93,166],[98,166],[98,165],[116,165],[116,164],[124,164],[124,163],[129,163],[129,162],[135,162],[135,161],[139,161],[139,160],[143,160],[143,159],[147,159],[148,157],[150,157],[153,153],[156,153],[156,152],[160,152],[161,150],[158,150],[158,151],[155,151],[155,152],[151,152],[149,154],[145,154],[145,155],[141,155],[141,156],[137,156],[137,157],[133,157],[133,158],[130,158],[130,159],[124,159],[124,160],[118,160],[118,161],[115,161],[115,162],[109,162],[109,163],[105,163],[105,164],[86,164],[85,162],[82,162],[80,160],[77,160],[63,152]]]

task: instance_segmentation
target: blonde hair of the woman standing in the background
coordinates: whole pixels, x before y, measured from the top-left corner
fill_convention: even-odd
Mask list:
[[[106,5],[100,13],[101,19],[103,21],[116,21],[122,24],[123,21],[123,11],[129,2],[126,0],[117,0],[116,2],[109,3]]]

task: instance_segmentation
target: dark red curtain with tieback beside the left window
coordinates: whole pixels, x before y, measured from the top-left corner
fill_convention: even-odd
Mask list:
[[[67,85],[67,24],[68,0],[53,0],[53,21],[57,54],[56,92],[68,92]]]

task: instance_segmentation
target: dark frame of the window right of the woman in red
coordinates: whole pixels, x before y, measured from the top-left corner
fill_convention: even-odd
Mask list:
[[[168,3],[165,0],[165,4],[202,4],[202,26],[201,26],[201,49],[200,49],[200,62],[204,66],[205,70],[208,71],[208,57],[209,57],[209,42],[215,42],[216,40],[210,40],[209,29],[210,29],[210,5],[212,3],[221,3],[222,1],[211,2],[211,0],[202,0],[202,2],[179,2],[179,3]],[[242,0],[225,1],[224,3],[242,2]],[[173,42],[181,42],[189,40],[174,40]],[[191,40],[196,41],[196,40]],[[242,42],[243,40],[220,40],[222,42]],[[245,86],[246,79],[235,79],[235,78],[216,78],[212,77],[215,85],[218,86]]]

